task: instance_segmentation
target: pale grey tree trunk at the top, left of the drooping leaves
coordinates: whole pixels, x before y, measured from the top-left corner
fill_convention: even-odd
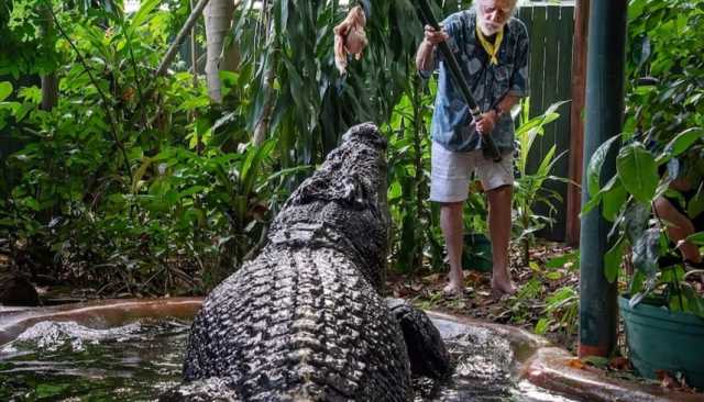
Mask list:
[[[208,81],[208,94],[217,103],[222,102],[220,71],[234,70],[239,64],[239,52],[235,46],[230,46],[223,53],[224,41],[231,29],[234,8],[235,2],[233,0],[211,0],[204,12],[206,16],[206,79]]]

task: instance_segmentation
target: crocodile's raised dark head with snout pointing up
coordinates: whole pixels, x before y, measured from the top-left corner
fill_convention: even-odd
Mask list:
[[[341,249],[381,290],[389,227],[386,190],[386,139],[372,123],[355,125],[290,196],[270,242]]]

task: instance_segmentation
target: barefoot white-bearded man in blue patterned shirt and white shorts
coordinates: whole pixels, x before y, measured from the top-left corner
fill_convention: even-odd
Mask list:
[[[450,263],[447,292],[463,290],[462,210],[474,171],[488,197],[488,230],[495,295],[513,294],[508,272],[512,222],[514,122],[510,109],[528,94],[528,33],[513,18],[517,0],[477,0],[470,10],[448,16],[442,31],[426,26],[416,54],[421,76],[439,67],[438,94],[432,116],[430,200],[441,203],[440,225]],[[485,111],[476,125],[449,75],[437,45],[447,41],[458,59],[479,107]],[[483,155],[482,137],[491,135],[503,155],[495,163]]]

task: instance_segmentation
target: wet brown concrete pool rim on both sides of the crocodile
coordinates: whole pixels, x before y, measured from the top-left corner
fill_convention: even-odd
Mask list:
[[[8,309],[0,306],[0,346],[11,342],[24,330],[42,321],[75,321],[94,328],[125,325],[144,317],[193,317],[202,298],[170,298],[140,300],[103,300],[38,309]],[[582,401],[683,401],[704,402],[704,394],[670,391],[608,378],[596,368],[573,368],[574,356],[551,346],[544,338],[525,330],[486,323],[438,312],[428,312],[431,319],[468,326],[480,326],[505,337],[516,356],[517,380],[528,380],[542,389]]]

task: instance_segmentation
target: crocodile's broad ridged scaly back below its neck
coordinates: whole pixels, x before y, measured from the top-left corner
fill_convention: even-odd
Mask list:
[[[393,323],[339,252],[266,250],[204,304],[186,379],[224,377],[246,401],[405,401],[408,358]]]

